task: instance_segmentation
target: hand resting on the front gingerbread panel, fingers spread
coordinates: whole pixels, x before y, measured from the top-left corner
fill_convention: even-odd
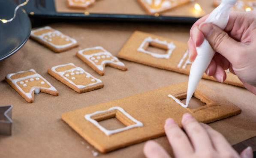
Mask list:
[[[197,122],[188,113],[183,115],[181,123],[186,134],[173,119],[166,119],[165,124],[166,136],[175,158],[253,158],[251,147],[238,155],[219,132]],[[144,154],[147,158],[171,158],[163,147],[153,140],[145,144]]]

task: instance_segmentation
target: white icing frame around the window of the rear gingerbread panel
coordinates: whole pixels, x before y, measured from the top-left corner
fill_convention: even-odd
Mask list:
[[[158,45],[161,45],[161,48],[162,47],[167,48],[167,53],[166,54],[157,54],[157,53],[153,53],[153,52],[150,52],[150,51],[146,51],[145,49],[148,48],[148,45],[150,45],[151,42],[154,42],[154,43],[157,43]],[[149,54],[152,57],[168,59],[171,56],[172,51],[175,48],[176,48],[176,46],[173,44],[173,42],[168,43],[166,41],[160,41],[159,39],[152,39],[151,37],[148,37],[148,38],[144,39],[144,41],[142,42],[140,47],[137,49],[137,51]]]

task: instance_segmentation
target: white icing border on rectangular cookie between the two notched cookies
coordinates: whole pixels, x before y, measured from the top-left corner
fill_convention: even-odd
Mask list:
[[[70,65],[70,66],[75,66],[73,63],[58,65],[58,66],[52,67],[52,68],[51,68],[51,71],[57,73],[57,74],[60,75],[62,78],[64,78],[66,81],[68,81],[68,82],[71,83],[72,85],[78,87],[79,89],[83,89],[83,88],[85,88],[85,87],[87,87],[87,86],[92,86],[92,85],[94,85],[94,84],[102,83],[101,80],[99,80],[99,79],[97,79],[97,78],[94,78],[92,75],[90,75],[88,72],[84,71],[84,69],[82,69],[82,68],[80,68],[80,67],[78,67],[78,66],[75,66],[76,68],[69,69],[69,70],[66,70],[66,71],[63,71],[63,72],[57,72],[57,71],[56,71],[57,68],[63,67],[63,66],[68,66],[68,65]],[[75,84],[74,82],[72,82],[72,80],[69,80],[66,76],[64,76],[64,74],[65,74],[66,72],[74,72],[74,71],[83,72],[83,73],[85,73],[87,76],[89,76],[90,78],[93,78],[94,80],[96,80],[96,82],[95,82],[95,83],[87,84],[86,86],[84,86],[84,85],[77,85],[77,84]],[[89,77],[88,77],[88,78],[89,78]]]

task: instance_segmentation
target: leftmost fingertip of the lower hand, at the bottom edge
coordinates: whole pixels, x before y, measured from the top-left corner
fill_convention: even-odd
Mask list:
[[[143,152],[147,158],[171,158],[165,149],[153,140],[145,144]]]

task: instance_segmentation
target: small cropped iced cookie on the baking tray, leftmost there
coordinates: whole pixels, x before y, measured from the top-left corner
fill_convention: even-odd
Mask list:
[[[69,8],[86,9],[95,3],[95,0],[66,0]]]

